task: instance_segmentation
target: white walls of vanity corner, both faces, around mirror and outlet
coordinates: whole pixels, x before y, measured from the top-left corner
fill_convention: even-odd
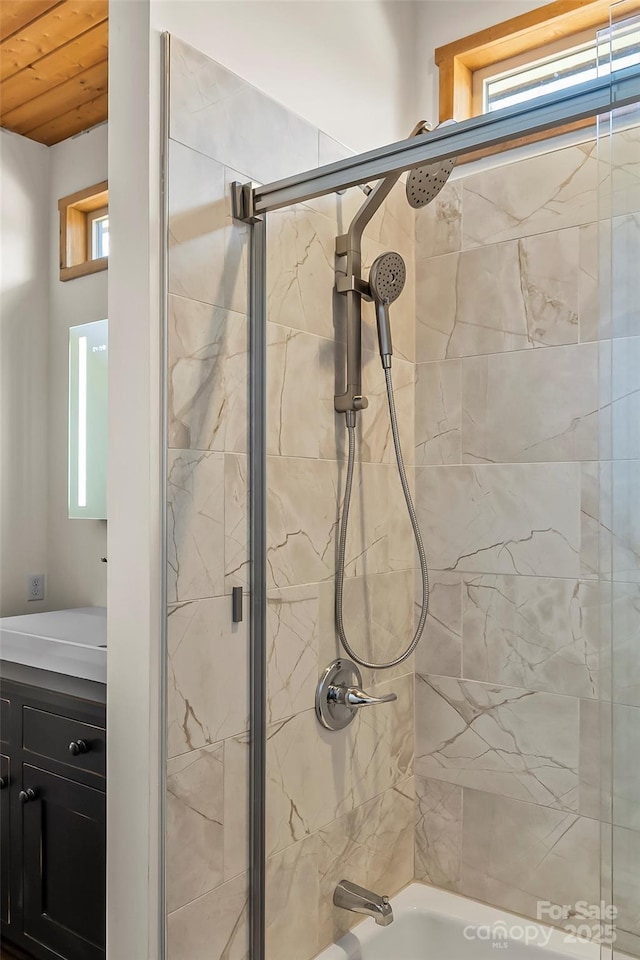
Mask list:
[[[54,147],[2,130],[0,175],[0,616],[105,605],[106,523],[67,516],[67,424],[69,327],[108,315],[107,274],[60,281],[58,200],[107,179],[107,127]]]

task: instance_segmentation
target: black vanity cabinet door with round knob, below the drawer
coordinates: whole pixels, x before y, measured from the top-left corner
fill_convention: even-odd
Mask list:
[[[105,795],[23,764],[23,930],[65,960],[103,960]]]

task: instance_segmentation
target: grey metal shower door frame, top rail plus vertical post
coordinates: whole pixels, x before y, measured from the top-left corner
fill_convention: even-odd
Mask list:
[[[517,137],[553,130],[640,102],[640,70],[630,67],[580,84],[562,97],[540,97],[523,107],[441,127],[428,136],[400,140],[284,180],[232,187],[234,218],[250,225],[250,864],[251,960],[265,958],[266,931],[266,601],[267,601],[267,223],[269,211],[379,180],[425,163],[462,156]]]

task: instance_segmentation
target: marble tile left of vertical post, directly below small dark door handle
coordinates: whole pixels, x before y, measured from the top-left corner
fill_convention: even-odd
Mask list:
[[[247,624],[232,623],[229,600],[170,608],[167,643],[169,756],[247,730]]]

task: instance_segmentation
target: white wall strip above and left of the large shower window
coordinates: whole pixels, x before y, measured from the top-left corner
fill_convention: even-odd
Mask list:
[[[502,20],[541,7],[540,0],[421,0],[417,3],[417,109],[438,120],[438,68],[434,50]]]

